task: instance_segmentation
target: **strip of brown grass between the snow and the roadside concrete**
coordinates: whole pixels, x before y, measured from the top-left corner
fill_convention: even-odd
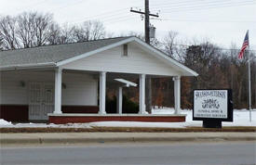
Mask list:
[[[141,127],[92,127],[92,128],[0,128],[0,133],[192,133],[192,132],[256,132],[256,127],[236,126],[217,128],[141,128]]]

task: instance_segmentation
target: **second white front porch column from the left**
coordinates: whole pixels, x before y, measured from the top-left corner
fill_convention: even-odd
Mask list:
[[[99,114],[106,114],[106,72],[101,71],[100,73],[100,109]]]

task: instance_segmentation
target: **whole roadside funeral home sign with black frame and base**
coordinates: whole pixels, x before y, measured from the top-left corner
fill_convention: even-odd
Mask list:
[[[233,121],[231,89],[195,89],[193,121],[204,128],[222,128],[222,121]]]

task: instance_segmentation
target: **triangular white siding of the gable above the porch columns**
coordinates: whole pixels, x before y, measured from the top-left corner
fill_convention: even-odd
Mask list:
[[[122,51],[123,46],[117,46],[99,54],[76,60],[62,67],[71,70],[96,70],[167,76],[181,74],[162,59],[145,53],[141,48],[133,44],[128,44],[128,57],[124,57]]]

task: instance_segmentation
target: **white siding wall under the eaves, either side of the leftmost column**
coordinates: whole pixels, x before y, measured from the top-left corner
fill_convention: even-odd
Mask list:
[[[0,104],[29,104],[29,83],[53,83],[54,71],[8,71],[1,74]],[[20,82],[25,85],[21,86]],[[98,81],[85,73],[62,73],[62,105],[97,106]]]

